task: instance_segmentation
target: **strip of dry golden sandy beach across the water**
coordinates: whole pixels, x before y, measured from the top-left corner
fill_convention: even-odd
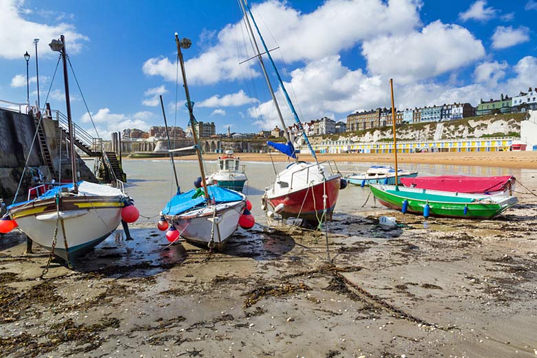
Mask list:
[[[204,159],[215,160],[222,154],[204,154]],[[236,156],[244,161],[285,162],[283,154],[237,153]],[[162,158],[162,157],[161,157]],[[319,160],[335,160],[339,162],[359,163],[375,162],[392,164],[393,154],[317,154]],[[300,160],[313,160],[310,154],[299,154]],[[176,160],[196,160],[196,156],[180,156]],[[537,169],[537,151],[496,151],[496,152],[467,152],[467,153],[410,153],[398,154],[399,163],[408,164],[441,164],[441,165],[472,165],[486,167],[504,167],[516,169]]]

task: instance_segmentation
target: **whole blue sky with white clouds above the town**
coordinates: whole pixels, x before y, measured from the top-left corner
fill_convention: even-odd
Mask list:
[[[249,1],[302,121],[346,120],[356,111],[513,96],[537,87],[537,0]],[[65,35],[74,121],[99,135],[124,128],[186,127],[188,113],[174,33],[183,50],[197,120],[218,133],[280,125],[238,1],[0,0],[0,100],[36,94],[65,113],[61,65],[48,43]],[[251,60],[249,60],[251,59]],[[264,56],[287,125],[293,116]],[[249,61],[248,61],[249,60]],[[176,81],[178,79],[178,81]],[[176,101],[177,99],[177,101]],[[6,107],[6,103],[1,103]],[[280,125],[281,127],[281,125]]]

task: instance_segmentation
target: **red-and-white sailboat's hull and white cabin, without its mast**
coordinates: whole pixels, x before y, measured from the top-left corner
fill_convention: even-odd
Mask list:
[[[275,183],[265,189],[264,200],[282,218],[302,218],[322,222],[332,220],[341,174],[332,173],[329,162],[293,162],[278,173]]]

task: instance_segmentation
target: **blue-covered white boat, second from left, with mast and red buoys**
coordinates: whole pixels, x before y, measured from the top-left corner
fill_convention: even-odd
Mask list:
[[[175,38],[194,140],[193,147],[190,147],[189,149],[196,149],[201,176],[194,182],[196,189],[192,189],[186,193],[180,193],[176,173],[178,193],[169,200],[166,207],[162,210],[162,218],[158,226],[160,229],[161,223],[165,224],[164,227],[168,226],[167,223],[171,224],[166,235],[170,242],[176,242],[179,238],[183,238],[191,244],[203,246],[209,248],[209,250],[217,249],[222,251],[227,240],[237,230],[242,215],[248,216],[249,227],[253,225],[253,217],[251,214],[245,213],[246,197],[242,193],[223,187],[216,187],[214,185],[208,186],[207,184],[202,152],[198,145],[196,118],[193,114],[193,102],[190,101],[185,63],[183,62],[181,52],[181,48],[190,48],[192,43],[189,39],[179,40],[177,33]],[[160,97],[160,101],[162,113],[164,114],[162,96]],[[173,153],[174,151],[180,150],[184,150],[184,148],[171,149],[169,152]],[[172,155],[170,155],[170,159],[173,163]],[[175,172],[174,165],[173,170]]]

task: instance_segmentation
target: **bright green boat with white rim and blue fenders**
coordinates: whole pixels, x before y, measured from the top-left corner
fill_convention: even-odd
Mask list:
[[[487,196],[370,184],[375,198],[385,207],[439,218],[490,219],[518,202],[514,196]]]

